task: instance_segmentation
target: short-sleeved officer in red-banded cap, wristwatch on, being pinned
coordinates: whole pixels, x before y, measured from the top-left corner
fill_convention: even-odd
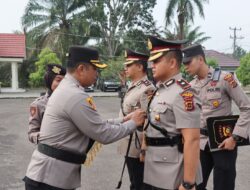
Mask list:
[[[200,102],[180,73],[183,43],[153,36],[148,39],[157,91],[148,106],[145,190],[193,190],[201,181]]]

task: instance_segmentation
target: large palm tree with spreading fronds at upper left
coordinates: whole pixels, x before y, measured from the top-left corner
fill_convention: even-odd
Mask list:
[[[35,48],[50,47],[64,59],[73,40],[70,35],[72,27],[77,25],[74,32],[83,32],[86,26],[84,20],[79,24],[79,20],[75,19],[85,1],[29,0],[22,17],[22,26],[29,39],[37,44]],[[87,41],[86,38],[81,40]]]

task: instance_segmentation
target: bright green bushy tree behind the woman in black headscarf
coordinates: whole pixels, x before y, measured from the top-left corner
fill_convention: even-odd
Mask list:
[[[46,65],[50,63],[60,64],[57,55],[53,53],[49,48],[45,48],[38,55],[38,61],[35,62],[36,71],[29,75],[29,84],[32,87],[40,87],[44,84],[43,76],[45,74]]]

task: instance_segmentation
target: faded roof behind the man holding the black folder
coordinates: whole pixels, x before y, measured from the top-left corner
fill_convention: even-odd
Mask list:
[[[206,58],[215,59],[221,67],[239,67],[240,62],[236,59],[214,50],[205,50]]]

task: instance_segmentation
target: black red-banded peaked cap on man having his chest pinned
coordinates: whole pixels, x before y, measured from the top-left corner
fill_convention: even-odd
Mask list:
[[[161,57],[164,52],[180,50],[187,40],[170,41],[163,40],[154,36],[148,38],[148,49],[150,50],[150,57],[148,61],[154,61]]]

